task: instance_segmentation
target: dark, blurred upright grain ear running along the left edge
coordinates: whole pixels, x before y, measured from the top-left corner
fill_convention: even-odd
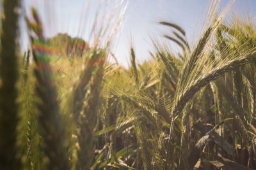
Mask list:
[[[16,39],[18,0],[3,1],[0,52],[0,169],[19,169],[20,158],[15,146],[19,118],[17,104],[18,80]]]

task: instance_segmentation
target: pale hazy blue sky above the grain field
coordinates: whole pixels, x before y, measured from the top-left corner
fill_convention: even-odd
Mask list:
[[[102,0],[101,0],[102,1]],[[116,5],[120,4],[119,6]],[[228,0],[221,1],[221,8],[225,8]],[[121,4],[122,3],[122,4]],[[24,0],[26,15],[29,6],[35,6],[42,16],[45,25],[45,36],[51,37],[58,32],[67,32],[70,36],[79,36],[86,41],[92,39],[92,25],[95,14],[99,11],[99,18],[107,25],[108,18],[115,23],[119,15],[111,12],[117,10],[119,13],[125,10],[123,21],[121,22],[118,36],[113,45],[113,53],[118,60],[118,64],[130,66],[129,48],[131,42],[136,53],[136,61],[142,63],[150,59],[149,51],[152,51],[152,41],[150,38],[163,38],[164,34],[172,35],[172,29],[157,24],[159,21],[172,22],[180,25],[186,31],[188,42],[193,44],[198,38],[198,33],[202,32],[205,21],[205,11],[209,1],[206,0]],[[106,6],[109,6],[104,13]],[[99,9],[99,10],[98,10]],[[234,12],[246,14],[251,11],[252,18],[256,17],[256,1],[240,0],[234,4]],[[45,15],[46,14],[46,15]],[[108,25],[109,28],[113,24]],[[174,50],[179,51],[179,47],[174,46]]]

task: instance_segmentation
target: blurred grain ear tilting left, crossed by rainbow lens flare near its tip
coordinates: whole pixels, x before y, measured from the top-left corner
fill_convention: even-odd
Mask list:
[[[44,41],[42,22],[35,8],[32,8],[33,19],[28,20],[28,26],[31,32],[36,36],[32,37],[33,59],[36,67],[34,69],[36,77],[36,101],[38,111],[38,129],[41,138],[40,148],[49,158],[49,169],[70,169],[65,148],[65,134],[61,126],[60,106],[57,101],[57,91],[52,76],[52,68],[49,64],[50,48]]]

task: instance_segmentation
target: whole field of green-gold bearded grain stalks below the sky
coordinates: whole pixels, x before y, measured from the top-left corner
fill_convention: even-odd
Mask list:
[[[109,57],[118,57],[111,47],[126,6],[115,19],[98,11],[90,45],[65,56],[32,8],[31,49],[19,60],[19,3],[3,1],[0,168],[255,169],[256,29],[250,17],[226,18],[233,3],[218,13],[212,1],[195,45],[159,22],[173,29],[166,41],[152,38],[143,64],[131,45],[125,69]]]

